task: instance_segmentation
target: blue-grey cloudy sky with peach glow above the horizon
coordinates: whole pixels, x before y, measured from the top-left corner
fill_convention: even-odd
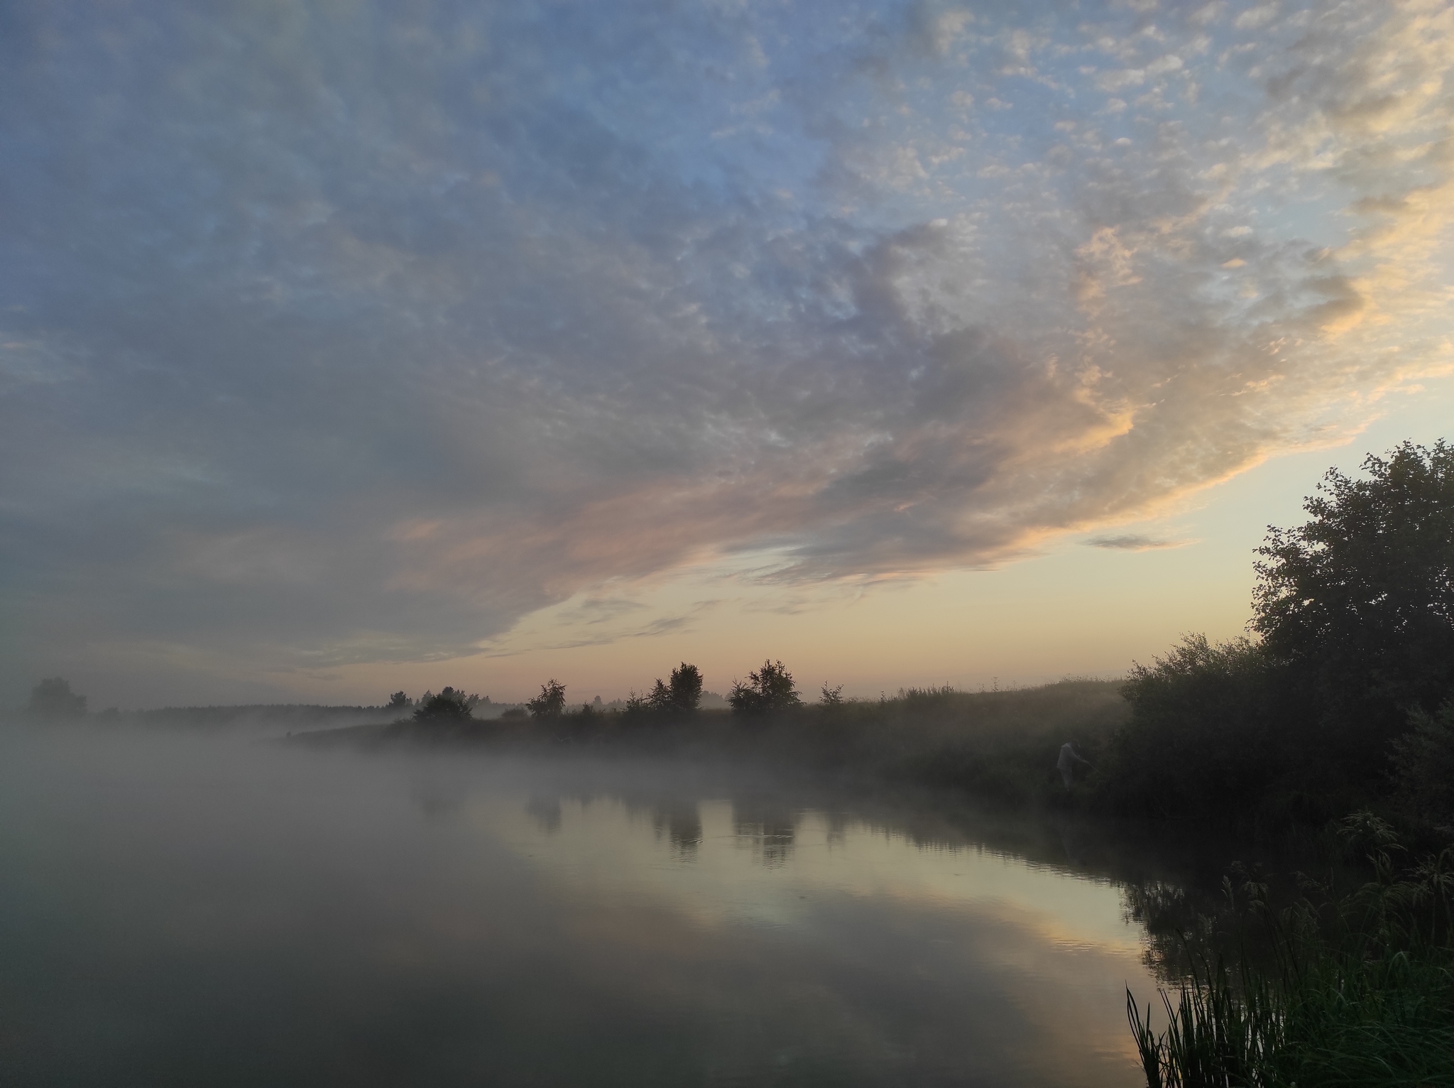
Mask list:
[[[0,7],[0,703],[1242,633],[1454,432],[1442,3]]]

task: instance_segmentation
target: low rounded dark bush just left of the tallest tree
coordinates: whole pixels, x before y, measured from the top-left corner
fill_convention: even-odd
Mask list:
[[[1282,769],[1269,687],[1268,660],[1246,639],[1189,634],[1153,665],[1136,665],[1121,688],[1131,717],[1111,743],[1101,801],[1157,817],[1255,801]]]

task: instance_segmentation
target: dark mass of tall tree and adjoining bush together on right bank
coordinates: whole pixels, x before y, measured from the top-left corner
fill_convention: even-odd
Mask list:
[[[1330,470],[1310,521],[1269,529],[1261,643],[1192,636],[1131,672],[1099,803],[1259,825],[1370,803],[1454,819],[1451,727],[1435,717],[1454,692],[1454,448],[1405,442],[1364,470]],[[1390,753],[1405,801],[1389,797]]]

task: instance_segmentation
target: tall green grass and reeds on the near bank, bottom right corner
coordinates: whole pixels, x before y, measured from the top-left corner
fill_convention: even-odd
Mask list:
[[[1127,991],[1149,1088],[1454,1085],[1454,848],[1407,864],[1381,820],[1359,813],[1343,831],[1371,847],[1354,892],[1313,886],[1274,915],[1265,887],[1246,886],[1269,956],[1194,956],[1160,992],[1162,1033]]]

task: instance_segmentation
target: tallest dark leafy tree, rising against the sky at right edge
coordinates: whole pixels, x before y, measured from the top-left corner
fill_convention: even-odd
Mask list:
[[[1381,764],[1407,714],[1454,691],[1454,447],[1405,442],[1336,468],[1258,548],[1252,630],[1309,708],[1319,743]]]

